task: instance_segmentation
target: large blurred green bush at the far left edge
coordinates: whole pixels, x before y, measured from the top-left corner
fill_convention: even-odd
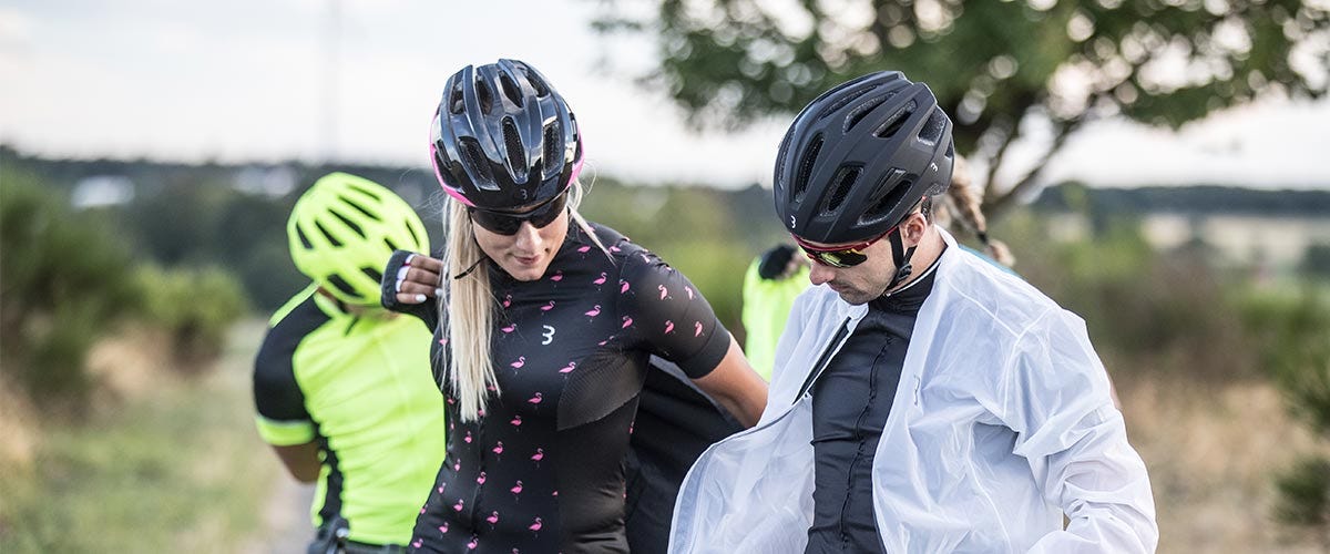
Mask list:
[[[3,371],[35,400],[80,411],[88,349],[136,300],[129,251],[105,222],[8,166],[0,210]]]

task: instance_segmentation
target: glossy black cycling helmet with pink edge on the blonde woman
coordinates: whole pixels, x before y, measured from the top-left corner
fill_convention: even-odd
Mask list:
[[[568,102],[536,68],[517,60],[468,65],[448,77],[430,154],[443,190],[480,210],[555,198],[583,162]]]

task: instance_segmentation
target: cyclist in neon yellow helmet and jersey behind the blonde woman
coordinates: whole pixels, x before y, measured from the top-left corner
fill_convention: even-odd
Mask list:
[[[313,283],[258,352],[259,434],[293,477],[318,481],[311,553],[402,551],[443,461],[444,411],[431,333],[379,307],[379,271],[430,239],[402,198],[344,173],[301,197],[287,235]]]

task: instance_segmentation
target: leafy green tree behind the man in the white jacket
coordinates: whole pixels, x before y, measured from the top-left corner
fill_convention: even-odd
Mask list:
[[[798,112],[851,77],[899,69],[955,120],[958,150],[987,166],[984,207],[1012,205],[1093,118],[1178,128],[1262,94],[1317,98],[1330,66],[1327,5],[1299,0],[602,0],[593,28],[644,33],[642,77],[696,128]],[[632,9],[629,9],[632,8]],[[1039,133],[1036,133],[1039,130]],[[1048,132],[1021,177],[1008,146]]]

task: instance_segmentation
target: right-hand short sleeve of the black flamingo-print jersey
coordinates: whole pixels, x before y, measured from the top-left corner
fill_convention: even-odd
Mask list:
[[[618,300],[624,327],[689,377],[710,373],[729,351],[729,329],[684,274],[650,251],[629,247],[620,275],[626,287]]]

